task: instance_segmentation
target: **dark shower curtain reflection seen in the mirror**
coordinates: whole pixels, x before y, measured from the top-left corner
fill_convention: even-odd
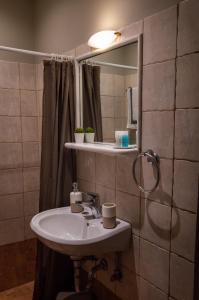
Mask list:
[[[100,67],[82,65],[83,126],[95,130],[95,139],[102,141],[102,113],[100,101]]]

